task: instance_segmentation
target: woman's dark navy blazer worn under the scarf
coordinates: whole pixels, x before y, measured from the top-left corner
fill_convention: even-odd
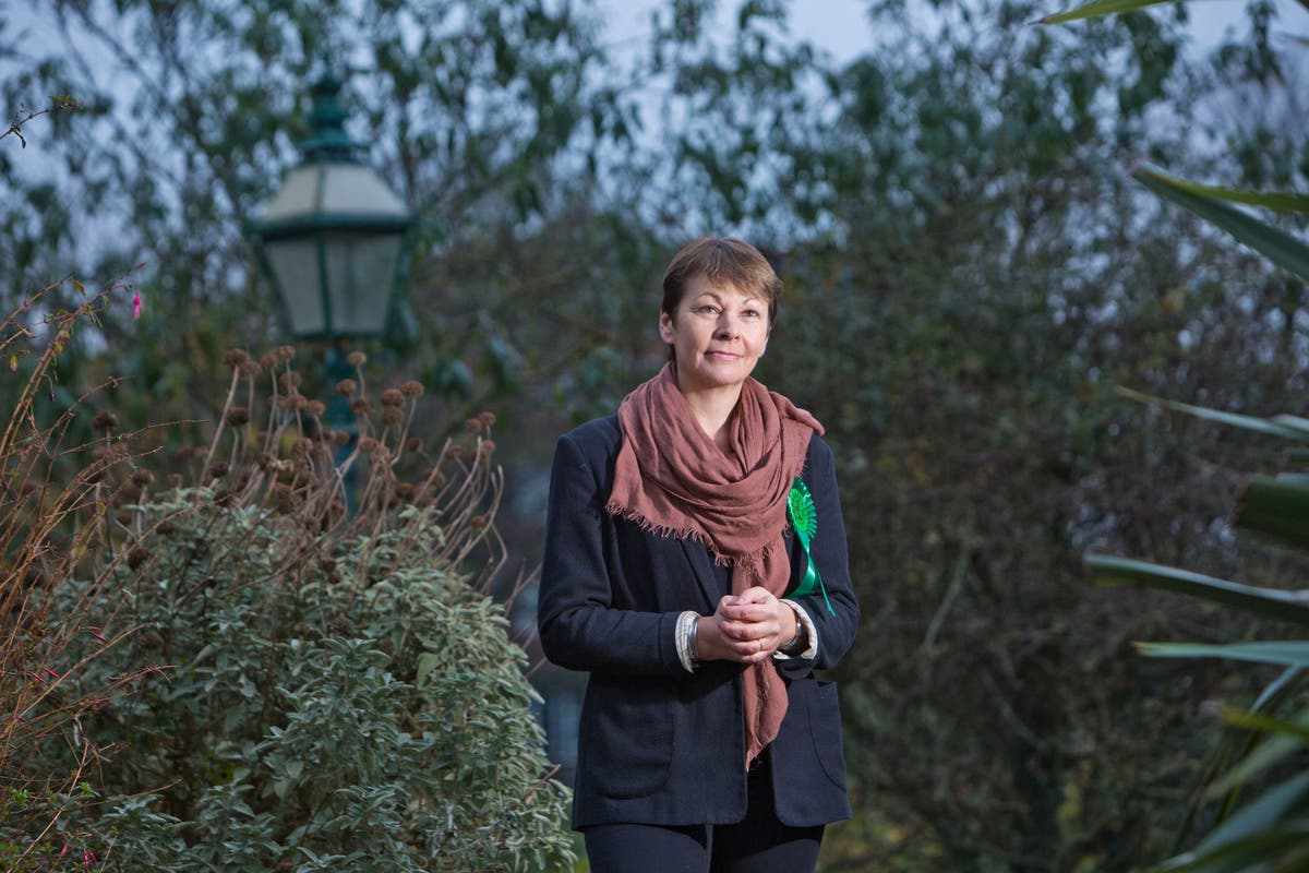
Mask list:
[[[698,543],[605,512],[620,442],[618,416],[565,433],[550,480],[541,644],[552,662],[590,673],[572,825],[738,822],[746,813],[741,666],[711,661],[687,673],[674,641],[683,610],[709,614],[717,605],[711,558]],[[822,594],[801,598],[818,631],[817,657],[776,662],[789,703],[770,746],[774,796],[778,818],[797,827],[851,815],[836,687],[813,670],[836,664],[859,623],[833,454],[817,435],[801,478],[818,510],[810,547],[835,615]],[[793,590],[806,561],[793,537],[787,547]]]

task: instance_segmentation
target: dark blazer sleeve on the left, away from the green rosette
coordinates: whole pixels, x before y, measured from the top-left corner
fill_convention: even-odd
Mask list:
[[[603,472],[572,435],[559,437],[537,606],[541,647],[550,661],[571,670],[687,677],[674,636],[679,613],[613,606]]]

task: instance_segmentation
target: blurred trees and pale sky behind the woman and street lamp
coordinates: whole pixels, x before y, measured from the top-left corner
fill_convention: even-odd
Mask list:
[[[874,1],[836,60],[788,35],[821,10],[779,0],[656,4],[636,46],[585,1],[41,0],[0,14],[0,93],[82,110],[0,152],[0,293],[126,275],[143,317],[115,297],[59,383],[120,376],[120,415],[203,437],[224,349],[280,339],[245,223],[297,161],[305,85],[348,73],[351,132],[421,216],[393,368],[432,408],[495,407],[530,564],[554,435],[662,361],[664,263],[749,238],[788,287],[759,376],[829,428],[865,614],[826,869],[1132,869],[1177,836],[1204,702],[1258,683],[1128,641],[1262,628],[1092,589],[1080,554],[1302,565],[1234,538],[1251,442],[1114,389],[1302,412],[1309,309],[1127,170],[1304,190],[1305,68],[1264,0],[1203,51],[1185,4],[1026,25],[1055,10]]]

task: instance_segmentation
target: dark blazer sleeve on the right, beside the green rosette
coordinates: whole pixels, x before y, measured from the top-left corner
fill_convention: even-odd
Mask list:
[[[778,671],[788,679],[802,678],[814,669],[836,666],[859,628],[859,603],[850,580],[850,555],[846,548],[846,522],[840,516],[840,497],[836,493],[836,463],[831,448],[818,436],[810,441],[804,479],[813,495],[818,517],[818,530],[809,542],[810,556],[827,589],[831,611],[827,610],[822,592],[796,598],[813,618],[818,631],[818,652],[813,658],[776,661]]]

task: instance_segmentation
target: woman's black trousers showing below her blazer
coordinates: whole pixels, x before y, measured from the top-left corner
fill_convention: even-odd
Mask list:
[[[750,806],[736,825],[593,825],[592,873],[813,873],[823,826],[778,821],[766,749],[746,777]]]

